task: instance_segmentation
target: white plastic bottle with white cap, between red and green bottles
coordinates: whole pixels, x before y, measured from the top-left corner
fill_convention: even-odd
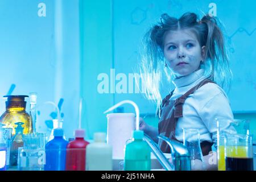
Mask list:
[[[112,146],[105,133],[94,133],[94,142],[86,146],[86,171],[112,171]]]

